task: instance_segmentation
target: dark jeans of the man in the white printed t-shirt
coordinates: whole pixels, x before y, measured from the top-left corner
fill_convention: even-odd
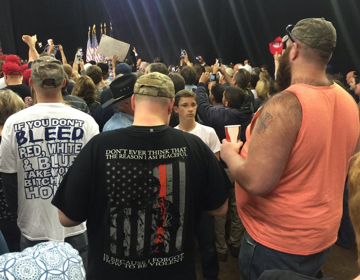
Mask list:
[[[21,234],[20,236],[20,248],[21,251],[27,247],[32,247],[41,242],[47,242],[48,240],[29,240]],[[77,235],[68,236],[64,239],[64,242],[69,243],[74,249],[78,250],[79,255],[82,258],[82,262],[87,271],[87,234],[86,231]]]

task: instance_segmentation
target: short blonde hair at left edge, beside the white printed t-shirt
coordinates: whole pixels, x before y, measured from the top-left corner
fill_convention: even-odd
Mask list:
[[[25,103],[10,89],[0,89],[0,125],[12,114],[25,108]]]

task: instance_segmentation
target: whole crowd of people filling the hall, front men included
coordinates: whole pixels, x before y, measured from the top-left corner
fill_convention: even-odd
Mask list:
[[[28,59],[0,56],[0,253],[67,242],[87,279],[196,279],[196,236],[204,279],[228,254],[243,280],[323,277],[343,208],[360,244],[360,72],[328,71],[331,22],[285,32],[273,76],[186,51],[67,63],[23,35]]]

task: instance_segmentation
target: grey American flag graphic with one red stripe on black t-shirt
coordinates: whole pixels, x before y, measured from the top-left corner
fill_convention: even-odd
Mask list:
[[[185,180],[185,162],[179,159],[155,166],[151,162],[107,161],[105,250],[129,257],[180,251]]]

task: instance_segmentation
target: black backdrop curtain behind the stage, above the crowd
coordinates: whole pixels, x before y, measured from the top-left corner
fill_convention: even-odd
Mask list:
[[[305,17],[325,17],[337,30],[330,61],[337,71],[360,69],[360,1],[358,0],[1,0],[0,39],[4,53],[27,57],[23,34],[62,44],[67,60],[86,48],[88,26],[112,21],[113,37],[136,47],[147,61],[161,56],[179,60],[185,48],[191,61],[208,64],[242,62],[273,67],[268,43],[284,35],[287,24]],[[38,48],[38,51],[42,49]]]

